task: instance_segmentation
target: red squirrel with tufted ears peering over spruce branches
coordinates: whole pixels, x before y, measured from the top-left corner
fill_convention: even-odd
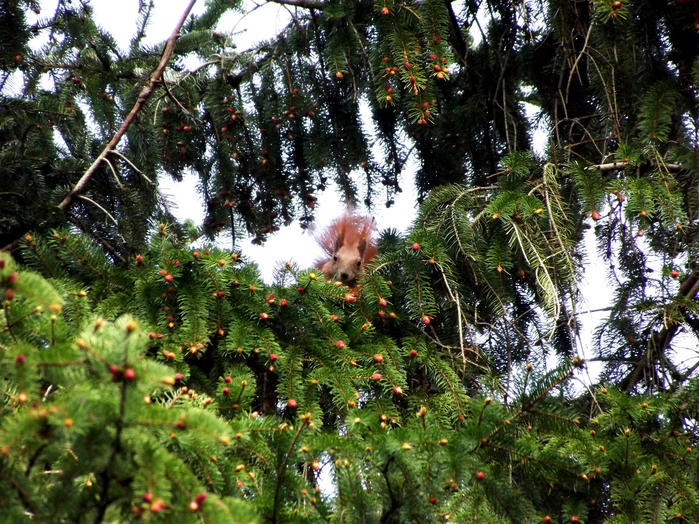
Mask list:
[[[326,228],[313,233],[324,251],[316,267],[327,280],[335,277],[345,286],[354,287],[364,265],[378,254],[376,231],[373,217],[359,214],[348,205]]]

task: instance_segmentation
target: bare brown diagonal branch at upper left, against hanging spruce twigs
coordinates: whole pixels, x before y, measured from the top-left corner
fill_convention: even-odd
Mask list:
[[[62,211],[65,211],[68,209],[69,205],[73,203],[75,198],[85,190],[85,187],[87,187],[87,183],[92,179],[93,175],[97,172],[97,168],[99,167],[99,164],[102,162],[102,159],[106,158],[107,155],[112,152],[115,147],[117,147],[117,144],[121,140],[122,136],[124,136],[124,133],[127,132],[127,129],[129,129],[129,126],[131,125],[132,122],[136,119],[136,115],[138,115],[138,112],[143,108],[147,100],[150,98],[150,96],[153,94],[155,88],[157,85],[159,85],[161,77],[163,75],[163,72],[165,71],[165,68],[170,61],[170,58],[173,54],[173,51],[175,50],[175,42],[177,42],[178,37],[180,36],[180,29],[182,29],[182,25],[185,24],[185,21],[187,20],[187,16],[189,16],[189,12],[192,10],[194,7],[194,3],[196,3],[196,0],[190,0],[189,4],[187,4],[187,8],[185,8],[185,12],[182,13],[182,16],[180,17],[180,20],[178,20],[177,25],[175,26],[175,29],[173,29],[172,34],[170,35],[170,38],[168,38],[166,44],[165,44],[165,49],[163,50],[162,57],[160,59],[160,62],[153,72],[153,74],[150,77],[150,80],[148,80],[147,84],[143,89],[141,90],[140,94],[138,94],[138,99],[136,100],[136,104],[134,105],[134,108],[131,109],[131,112],[129,112],[129,115],[127,118],[124,120],[122,123],[122,126],[119,128],[119,131],[115,133],[115,135],[112,137],[112,139],[109,141],[107,146],[104,148],[104,150],[99,154],[99,157],[95,159],[95,161],[92,163],[92,166],[89,166],[87,171],[85,171],[85,174],[82,175],[80,180],[73,186],[73,189],[71,189],[71,192],[66,195],[66,197],[63,199],[63,201],[59,204],[59,208]]]

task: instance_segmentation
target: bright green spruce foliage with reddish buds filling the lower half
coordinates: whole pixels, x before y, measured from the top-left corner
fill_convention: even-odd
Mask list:
[[[268,287],[237,254],[162,234],[125,271],[79,238],[32,239],[34,263],[65,269],[60,293],[11,261],[1,273],[10,521],[697,518],[696,380],[569,398],[584,364],[546,371],[531,356],[502,398],[476,378],[487,356],[444,343],[456,329],[431,306],[442,246],[393,247],[352,303],[312,272],[284,268],[286,285]],[[416,277],[419,297],[398,291]]]

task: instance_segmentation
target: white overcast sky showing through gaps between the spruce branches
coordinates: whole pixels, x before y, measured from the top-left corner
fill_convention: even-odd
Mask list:
[[[41,15],[46,16],[48,13],[52,13],[56,3],[57,0],[43,1]],[[159,43],[168,38],[187,3],[187,0],[154,0],[154,11],[150,27],[147,30],[147,43]],[[96,22],[108,29],[121,48],[127,49],[131,37],[136,33],[138,1],[92,0],[91,5],[94,8]],[[256,8],[256,3],[250,0],[247,0],[245,5],[248,10],[247,15],[227,13],[217,27],[225,34],[235,31],[233,41],[240,50],[250,48],[259,41],[272,38],[289,20],[287,7],[261,1],[261,5]],[[192,13],[201,13],[203,9],[204,0],[199,0]],[[473,34],[473,37],[475,43],[480,41],[480,34],[477,32]],[[535,108],[529,106],[527,110],[533,112]],[[368,112],[363,113],[363,118],[368,126],[367,130],[370,131],[371,122]],[[545,129],[539,129],[535,132],[535,149],[542,149],[544,141],[547,140],[546,136]],[[417,210],[417,192],[412,184],[415,168],[415,159],[412,158],[403,171],[403,180],[401,181],[403,193],[396,196],[396,203],[391,208],[387,209],[383,205],[385,198],[375,197],[377,205],[373,214],[380,229],[392,227],[405,232],[410,228]],[[198,180],[193,175],[185,176],[182,182],[173,182],[170,177],[161,177],[160,179],[161,189],[177,207],[175,215],[181,220],[192,219],[195,223],[201,224],[204,209],[201,196],[196,191],[197,183]],[[319,194],[319,201],[316,205],[317,224],[327,223],[342,210],[343,206],[343,201],[340,200],[332,187],[326,189],[324,193]],[[582,293],[586,299],[586,310],[599,310],[611,304],[613,290],[609,286],[606,276],[607,265],[598,260],[596,256],[592,234],[586,235],[584,245],[587,258],[586,279],[582,282]],[[266,282],[271,282],[273,269],[280,263],[294,260],[301,266],[308,267],[312,265],[318,254],[317,247],[312,242],[310,235],[304,233],[296,222],[287,228],[282,228],[279,233],[271,235],[264,246],[257,247],[251,245],[249,240],[242,240],[238,242],[237,247],[243,250],[245,256],[259,265]],[[589,318],[583,319],[584,326],[581,330],[583,356],[593,355],[590,349],[593,329],[605,315],[604,312],[584,315],[584,317]],[[693,355],[696,358],[696,353]],[[598,370],[600,370],[599,365],[590,366],[591,375],[596,375]],[[593,377],[584,378],[587,382],[593,379]]]

